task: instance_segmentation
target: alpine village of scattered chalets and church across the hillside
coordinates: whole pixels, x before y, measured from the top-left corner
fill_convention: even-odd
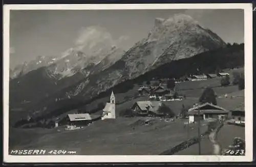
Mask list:
[[[229,75],[229,73],[190,75],[185,81],[200,81],[209,78],[226,77],[227,75]],[[140,96],[147,96],[148,100],[137,101],[130,107],[130,110],[128,109],[130,115],[133,117],[161,117],[172,118],[171,120],[174,120],[174,118],[178,118],[178,115],[176,115],[175,112],[172,112],[164,102],[182,101],[183,99],[186,99],[185,95],[177,94],[175,88],[168,88],[168,85],[164,81],[157,86],[140,86],[137,91]],[[225,98],[228,98],[227,94],[225,94]],[[230,96],[229,98],[232,97]],[[62,115],[62,119],[56,119],[55,127],[67,125],[67,130],[75,130],[83,126],[88,126],[95,121],[116,119],[116,99],[113,91],[109,102],[105,104],[102,112],[97,113],[98,114],[74,113],[68,114],[66,117],[63,117]],[[182,114],[184,114],[184,116],[182,116]],[[187,112],[181,113],[179,117],[187,118],[188,123],[196,122],[195,120],[198,119],[197,117],[201,117],[202,120],[218,119],[223,121],[229,119],[229,122],[236,124],[245,123],[244,107],[223,108],[222,106],[208,102],[203,104],[194,103],[193,107],[188,108]]]

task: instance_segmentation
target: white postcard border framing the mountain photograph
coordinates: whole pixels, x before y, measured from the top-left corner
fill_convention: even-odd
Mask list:
[[[139,9],[244,9],[245,47],[245,156],[201,155],[8,155],[9,145],[9,25],[10,10],[139,10]],[[4,162],[242,162],[252,161],[252,4],[87,4],[87,5],[4,5]]]

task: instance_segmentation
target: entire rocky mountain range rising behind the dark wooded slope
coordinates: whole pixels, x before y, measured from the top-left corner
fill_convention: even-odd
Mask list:
[[[99,34],[95,37],[99,41],[101,34],[106,33],[94,28],[87,31]],[[35,66],[39,62],[36,60],[28,63],[29,66],[19,66],[22,67],[17,68],[22,69],[20,71],[15,68],[11,71],[10,106],[15,108],[27,102],[37,104],[30,109],[38,110],[60,100],[86,101],[163,64],[225,46],[217,34],[188,15],[156,18],[147,37],[127,51],[113,46],[111,41],[95,42],[92,37],[90,43],[68,49],[59,58],[38,59],[44,62],[40,66]],[[92,51],[85,53],[80,48]],[[44,101],[42,106],[39,105],[41,101]]]

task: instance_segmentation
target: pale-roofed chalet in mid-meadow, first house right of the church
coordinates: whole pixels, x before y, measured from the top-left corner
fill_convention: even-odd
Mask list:
[[[135,115],[144,117],[162,117],[172,114],[170,108],[164,105],[161,101],[137,101],[132,106],[132,110]]]

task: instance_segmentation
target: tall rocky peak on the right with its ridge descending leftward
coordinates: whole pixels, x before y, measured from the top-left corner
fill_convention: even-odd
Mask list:
[[[115,60],[109,67],[90,74],[95,67],[92,65],[92,68],[88,69],[89,74],[77,80],[74,85],[61,90],[52,100],[72,99],[76,96],[94,97],[163,64],[225,46],[226,43],[219,36],[203,29],[190,16],[157,18],[148,36],[122,54],[120,59]]]

